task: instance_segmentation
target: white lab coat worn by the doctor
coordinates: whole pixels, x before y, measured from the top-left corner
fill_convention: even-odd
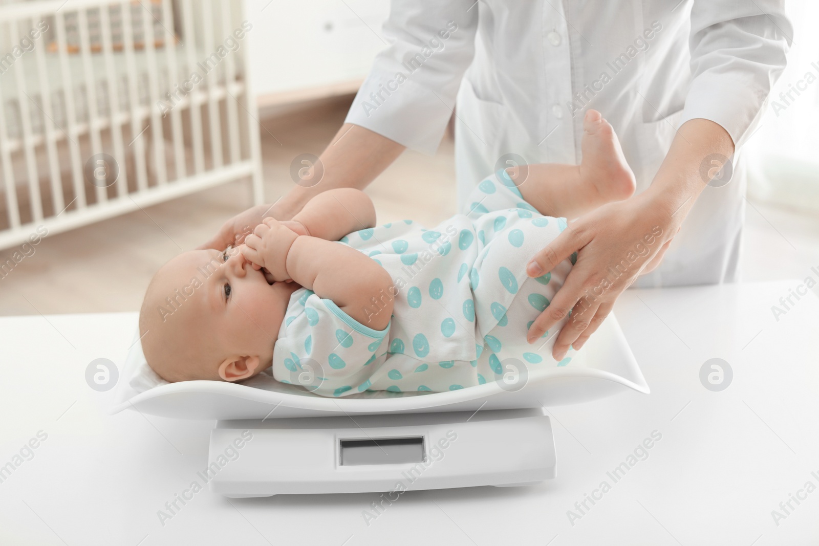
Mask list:
[[[591,107],[618,133],[641,192],[687,120],[722,125],[739,150],[793,36],[781,0],[678,1],[393,0],[381,33],[390,45],[346,121],[433,153],[457,101],[463,205],[505,154],[577,164]],[[635,286],[737,280],[745,188],[735,163]]]

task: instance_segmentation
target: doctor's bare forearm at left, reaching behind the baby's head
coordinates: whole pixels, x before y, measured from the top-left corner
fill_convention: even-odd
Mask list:
[[[405,147],[398,142],[364,129],[343,124],[319,158],[323,174],[318,183],[296,185],[282,197],[278,207],[292,216],[314,196],[337,187],[363,189],[400,156]]]

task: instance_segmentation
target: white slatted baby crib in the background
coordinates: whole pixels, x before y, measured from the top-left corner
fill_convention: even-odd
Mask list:
[[[0,249],[237,179],[262,202],[243,22],[229,0],[0,3]]]

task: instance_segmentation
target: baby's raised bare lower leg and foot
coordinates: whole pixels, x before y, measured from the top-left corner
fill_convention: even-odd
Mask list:
[[[581,144],[580,165],[541,163],[507,169],[523,198],[541,214],[573,219],[634,193],[634,173],[600,112],[586,112]],[[525,180],[518,181],[524,174]]]

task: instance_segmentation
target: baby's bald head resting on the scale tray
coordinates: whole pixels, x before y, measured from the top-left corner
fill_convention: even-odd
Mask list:
[[[148,285],[139,335],[165,381],[240,381],[270,366],[295,282],[267,282],[241,252],[183,252]]]

